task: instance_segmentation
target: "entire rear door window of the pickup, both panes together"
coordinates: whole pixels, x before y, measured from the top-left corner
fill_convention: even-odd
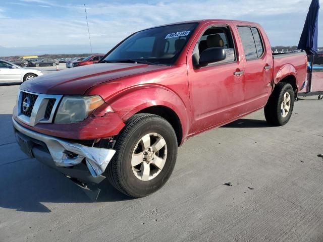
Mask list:
[[[247,61],[250,59],[260,58],[263,54],[263,43],[259,31],[252,27],[238,27],[241,37],[244,54]]]

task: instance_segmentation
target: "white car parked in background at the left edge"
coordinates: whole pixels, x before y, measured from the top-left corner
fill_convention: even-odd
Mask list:
[[[0,83],[20,83],[42,75],[42,71],[22,68],[0,60]]]

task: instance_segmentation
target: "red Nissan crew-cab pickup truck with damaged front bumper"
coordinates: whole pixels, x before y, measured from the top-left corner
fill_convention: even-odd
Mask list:
[[[79,185],[131,197],[161,188],[177,149],[264,108],[285,125],[305,85],[305,52],[273,55],[259,24],[182,22],[136,32],[98,64],[24,82],[13,110],[21,149]]]

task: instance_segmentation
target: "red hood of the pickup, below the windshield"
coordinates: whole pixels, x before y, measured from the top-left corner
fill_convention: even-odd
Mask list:
[[[169,67],[129,63],[99,63],[32,78],[21,84],[20,89],[42,94],[83,95],[89,88],[103,82],[165,68]]]

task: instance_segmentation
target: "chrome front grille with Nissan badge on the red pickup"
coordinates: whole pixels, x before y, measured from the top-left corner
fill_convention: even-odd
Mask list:
[[[27,100],[26,97],[29,99]],[[52,123],[55,111],[63,95],[47,95],[19,90],[18,93],[18,119],[21,122],[35,126],[38,123]],[[23,102],[25,109],[23,108]],[[26,108],[26,106],[29,106]]]

